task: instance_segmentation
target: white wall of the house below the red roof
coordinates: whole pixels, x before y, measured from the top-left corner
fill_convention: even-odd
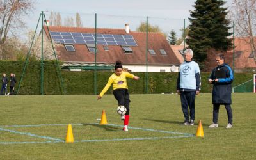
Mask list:
[[[131,70],[131,72],[146,72],[147,67],[145,65],[124,65],[124,68]],[[175,65],[148,65],[148,72],[179,72],[179,67]]]

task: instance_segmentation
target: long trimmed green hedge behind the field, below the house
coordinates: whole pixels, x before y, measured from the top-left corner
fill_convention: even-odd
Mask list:
[[[16,74],[18,87],[24,61],[0,61],[0,72],[5,72],[8,77],[10,73]],[[99,93],[108,81],[112,72],[97,72],[97,93]],[[127,79],[130,93],[145,93],[145,79],[146,73],[134,72],[136,76],[140,77],[139,81]],[[201,92],[211,92],[211,84],[207,83],[207,78],[210,73],[201,73]],[[70,72],[61,71],[64,86],[67,94],[93,94],[93,71]],[[148,73],[148,93],[175,93],[176,81],[178,73]],[[253,78],[253,73],[236,73],[233,86],[244,83]],[[44,61],[44,94],[45,95],[58,95],[61,94],[60,79],[56,70],[54,61]],[[109,89],[107,93],[111,93]],[[39,95],[40,94],[40,62],[32,61],[28,63],[24,79],[20,84],[19,95]]]

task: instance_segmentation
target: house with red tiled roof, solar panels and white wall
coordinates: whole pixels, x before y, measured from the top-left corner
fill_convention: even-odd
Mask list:
[[[117,60],[131,72],[178,72],[173,68],[180,65],[162,33],[148,33],[147,38],[147,33],[130,31],[127,24],[124,29],[96,30],[49,26],[48,31],[44,26],[44,31],[60,44],[56,50],[62,69],[92,70],[96,61],[98,70],[113,70]]]

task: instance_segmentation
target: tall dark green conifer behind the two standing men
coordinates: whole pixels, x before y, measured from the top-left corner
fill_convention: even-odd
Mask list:
[[[196,0],[195,10],[191,11],[189,21],[189,39],[187,44],[194,51],[194,58],[202,66],[207,57],[207,50],[226,52],[232,47],[228,36],[230,20],[227,19],[227,8],[223,0]]]

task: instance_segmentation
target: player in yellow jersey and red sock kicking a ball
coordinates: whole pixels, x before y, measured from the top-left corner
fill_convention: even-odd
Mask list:
[[[113,94],[118,101],[118,106],[125,106],[127,109],[125,115],[121,116],[121,120],[124,120],[124,131],[128,131],[128,124],[130,118],[130,99],[128,92],[128,85],[126,77],[138,80],[139,77],[129,74],[128,72],[123,71],[123,66],[121,61],[116,61],[115,73],[113,73],[109,79],[106,86],[103,88],[102,92],[98,95],[98,99],[101,99],[104,93],[107,92],[111,84],[113,84]]]

